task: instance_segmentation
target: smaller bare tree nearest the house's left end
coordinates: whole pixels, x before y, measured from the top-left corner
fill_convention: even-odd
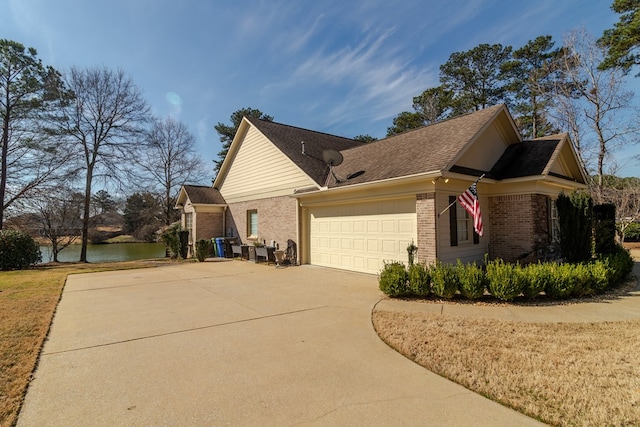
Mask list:
[[[180,186],[202,181],[208,175],[195,151],[195,138],[184,123],[172,117],[154,121],[140,167],[151,178],[152,190],[160,194],[165,225],[176,219],[174,206]]]

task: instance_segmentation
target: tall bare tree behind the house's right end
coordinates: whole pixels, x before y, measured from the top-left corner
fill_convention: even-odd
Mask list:
[[[595,163],[592,166],[601,188],[609,156],[622,144],[635,142],[631,138],[638,132],[633,93],[624,88],[623,69],[598,68],[606,48],[584,29],[570,32],[564,48],[561,66],[570,84],[559,85],[562,90],[556,96],[558,117],[571,130],[585,163]]]

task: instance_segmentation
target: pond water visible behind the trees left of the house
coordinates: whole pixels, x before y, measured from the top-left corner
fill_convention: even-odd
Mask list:
[[[42,262],[53,259],[51,246],[40,246]],[[117,262],[137,259],[163,258],[165,246],[162,243],[109,243],[87,246],[87,261]],[[58,261],[75,262],[80,259],[80,245],[70,245],[58,253]]]

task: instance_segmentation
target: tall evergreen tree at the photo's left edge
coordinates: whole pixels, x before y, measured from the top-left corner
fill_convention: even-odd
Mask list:
[[[7,208],[70,172],[69,150],[46,131],[70,96],[35,49],[0,39],[0,229]]]

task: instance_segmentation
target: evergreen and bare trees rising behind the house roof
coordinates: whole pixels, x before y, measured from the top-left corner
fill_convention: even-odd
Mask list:
[[[640,182],[617,178],[620,165],[612,154],[639,141],[638,106],[625,82],[640,65],[640,0],[614,0],[611,8],[620,20],[600,38],[574,29],[560,45],[541,35],[519,48],[479,44],[452,53],[440,66],[440,84],[414,96],[413,111],[398,113],[386,136],[504,103],[526,139],[569,134],[593,178],[594,200],[616,205],[624,231],[640,221]],[[243,116],[273,120],[258,109],[243,108],[231,115],[231,125],[218,123],[223,149],[216,172]],[[353,139],[377,140],[369,134]]]

